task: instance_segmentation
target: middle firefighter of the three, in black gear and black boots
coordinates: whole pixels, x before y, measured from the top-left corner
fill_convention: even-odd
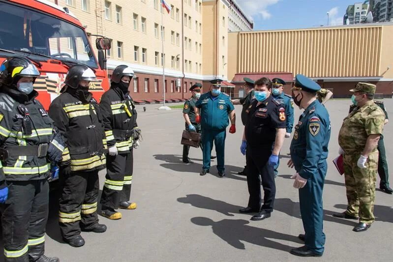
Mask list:
[[[98,224],[98,171],[105,168],[105,134],[98,103],[89,92],[94,72],[86,65],[72,66],[61,94],[49,107],[49,116],[64,137],[60,161],[59,224],[65,242],[80,247],[81,231],[103,233]]]

